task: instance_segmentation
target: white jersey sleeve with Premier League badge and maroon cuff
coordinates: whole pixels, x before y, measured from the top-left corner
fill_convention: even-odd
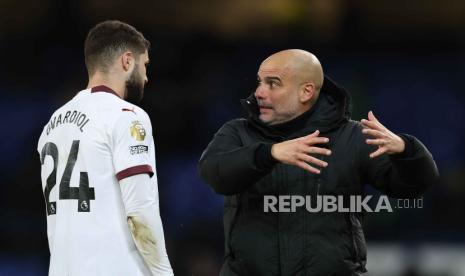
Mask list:
[[[153,152],[150,120],[145,116],[123,112],[111,131],[113,165],[118,181],[136,175],[153,176],[149,153]]]

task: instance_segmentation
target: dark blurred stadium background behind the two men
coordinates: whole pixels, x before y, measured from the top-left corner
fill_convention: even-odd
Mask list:
[[[161,213],[176,275],[217,275],[222,197],[197,174],[215,131],[242,116],[260,62],[286,48],[315,53],[353,97],[420,138],[442,181],[423,209],[368,214],[377,276],[465,275],[465,2],[370,0],[1,0],[0,275],[47,275],[37,139],[84,89],[83,42],[105,19],[152,42],[141,106],[152,119]]]

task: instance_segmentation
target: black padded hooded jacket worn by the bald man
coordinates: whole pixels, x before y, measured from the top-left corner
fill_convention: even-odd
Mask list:
[[[299,131],[283,134],[258,119],[256,100],[243,102],[247,119],[227,122],[199,162],[202,178],[225,195],[225,262],[221,275],[367,275],[362,213],[263,211],[264,195],[363,195],[373,185],[391,197],[421,195],[438,178],[431,154],[403,134],[406,150],[370,159],[359,122],[350,120],[350,97],[325,78],[317,103]],[[302,120],[302,119],[300,119]],[[279,128],[278,128],[279,129]],[[319,129],[332,155],[320,175],[272,161],[273,143]]]

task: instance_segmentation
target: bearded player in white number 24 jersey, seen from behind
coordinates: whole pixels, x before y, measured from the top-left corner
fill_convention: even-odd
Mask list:
[[[148,115],[136,106],[150,43],[105,21],[85,41],[87,89],[45,125],[38,151],[51,276],[173,275]]]

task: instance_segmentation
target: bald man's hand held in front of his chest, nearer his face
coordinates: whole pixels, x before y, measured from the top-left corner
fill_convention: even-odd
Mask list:
[[[325,168],[328,166],[328,163],[310,154],[331,154],[331,151],[328,149],[314,146],[329,142],[329,139],[326,137],[318,137],[319,134],[320,132],[316,130],[310,135],[274,144],[271,147],[271,155],[281,163],[298,166],[311,173],[319,174],[321,170],[315,166]]]

